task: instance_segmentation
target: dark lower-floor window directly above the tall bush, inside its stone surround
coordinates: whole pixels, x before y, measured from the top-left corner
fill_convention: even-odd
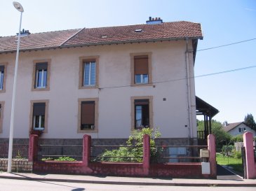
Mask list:
[[[135,129],[149,127],[149,99],[135,99]]]

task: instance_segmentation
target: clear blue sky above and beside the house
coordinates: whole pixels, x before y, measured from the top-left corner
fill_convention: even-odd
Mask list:
[[[32,33],[142,24],[151,17],[163,22],[200,22],[203,41],[198,50],[256,38],[256,0],[17,0],[25,12],[22,28]],[[0,0],[0,36],[18,32],[20,13],[13,1]],[[215,120],[256,120],[256,40],[198,51],[195,76],[250,69],[196,78],[196,95],[215,106]]]

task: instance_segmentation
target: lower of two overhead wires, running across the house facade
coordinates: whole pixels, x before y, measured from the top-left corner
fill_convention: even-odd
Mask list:
[[[199,76],[190,77],[190,79],[191,78],[201,78],[201,77],[206,77],[206,76],[214,76],[214,75],[218,75],[218,74],[222,74],[222,73],[230,73],[230,72],[234,72],[234,71],[241,71],[241,70],[253,69],[253,68],[256,68],[256,65],[243,67],[243,68],[239,68],[239,69],[231,69],[231,70],[227,70],[227,71],[219,71],[219,72],[215,72],[215,73],[207,73],[207,74],[203,74],[203,75],[199,75]],[[158,83],[170,83],[170,82],[175,82],[175,81],[179,81],[179,80],[187,80],[187,78],[177,78],[177,79],[172,79],[172,80],[156,81],[156,82],[148,83],[148,84],[149,85],[154,85],[154,84],[158,84]],[[99,87],[99,89],[102,90],[102,89],[112,89],[112,88],[131,87],[131,86],[133,86],[133,85],[119,85],[119,86],[111,86],[111,87]]]

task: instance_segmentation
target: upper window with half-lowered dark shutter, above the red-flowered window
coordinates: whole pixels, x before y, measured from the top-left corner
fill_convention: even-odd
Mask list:
[[[47,63],[36,63],[36,88],[46,88],[47,65]]]

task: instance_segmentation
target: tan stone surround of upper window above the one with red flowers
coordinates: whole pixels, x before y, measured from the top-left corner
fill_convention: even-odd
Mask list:
[[[47,62],[47,85],[46,85],[46,88],[35,88],[36,63],[42,63],[42,62]],[[32,91],[49,91],[50,90],[50,62],[51,62],[51,59],[36,59],[36,60],[33,60]]]

